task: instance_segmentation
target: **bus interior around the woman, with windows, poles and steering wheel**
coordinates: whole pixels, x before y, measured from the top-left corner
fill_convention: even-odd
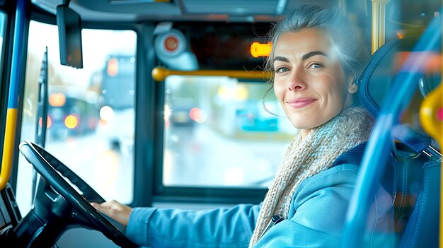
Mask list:
[[[441,247],[437,0],[0,0],[0,247],[138,247],[91,201],[263,201],[294,136],[266,94],[267,35],[303,4],[342,8],[372,54],[342,247],[360,247],[385,181],[396,247]]]

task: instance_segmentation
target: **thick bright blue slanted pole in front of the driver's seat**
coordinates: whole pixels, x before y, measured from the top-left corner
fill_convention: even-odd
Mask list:
[[[415,51],[435,51],[442,42],[442,18],[435,18],[427,26],[425,33],[413,48]],[[386,158],[391,148],[391,129],[397,124],[398,117],[413,97],[417,75],[423,70],[428,57],[425,52],[409,57],[393,81],[392,89],[381,107],[371,136],[364,151],[359,175],[355,184],[350,206],[347,211],[343,248],[362,247],[364,225],[372,204],[374,193],[379,186]]]

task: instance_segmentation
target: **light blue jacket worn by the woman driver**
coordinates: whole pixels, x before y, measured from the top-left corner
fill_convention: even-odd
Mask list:
[[[336,165],[305,179],[292,197],[289,217],[255,247],[340,247],[357,165]],[[383,187],[374,197],[362,247],[393,247],[393,197]],[[248,247],[260,205],[204,211],[134,208],[126,235],[144,247]],[[391,233],[391,235],[386,235]]]

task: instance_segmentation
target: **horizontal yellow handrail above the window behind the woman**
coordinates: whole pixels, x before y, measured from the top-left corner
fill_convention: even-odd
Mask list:
[[[266,71],[234,71],[234,70],[195,70],[195,71],[176,71],[169,70],[161,66],[157,66],[152,69],[152,78],[155,81],[161,82],[165,80],[167,76],[180,75],[180,76],[228,76],[231,78],[244,78],[244,79],[261,79],[267,80],[271,74]]]

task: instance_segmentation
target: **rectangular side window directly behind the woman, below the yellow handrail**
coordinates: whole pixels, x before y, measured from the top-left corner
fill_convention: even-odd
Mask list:
[[[264,81],[169,76],[165,81],[163,184],[265,188],[294,135]]]

